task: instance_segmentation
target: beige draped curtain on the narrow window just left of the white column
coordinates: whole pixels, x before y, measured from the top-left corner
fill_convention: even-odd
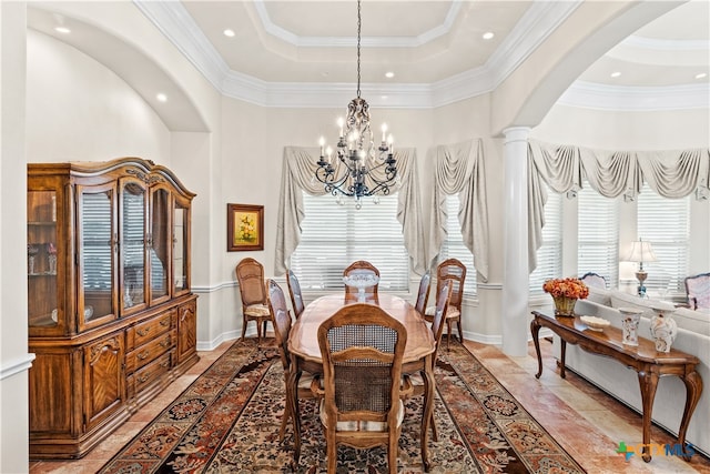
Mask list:
[[[486,203],[486,173],[483,140],[438,145],[432,153],[435,160],[434,199],[432,205],[432,235],[429,261],[439,253],[446,239],[447,195],[458,194],[464,244],[474,254],[476,271],[488,281],[488,205]]]

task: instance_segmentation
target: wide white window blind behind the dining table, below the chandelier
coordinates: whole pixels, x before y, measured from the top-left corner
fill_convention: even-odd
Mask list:
[[[334,196],[303,193],[305,218],[301,243],[291,256],[303,290],[343,289],[343,270],[366,260],[379,270],[379,290],[408,291],[409,256],[397,221],[397,195],[367,199],[355,209],[353,199],[338,205]]]

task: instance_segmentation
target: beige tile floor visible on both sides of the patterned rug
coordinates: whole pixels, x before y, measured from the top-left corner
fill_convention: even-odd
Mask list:
[[[197,364],[83,458],[30,461],[30,474],[97,472],[231,344],[232,342],[225,342],[214,351],[201,352]],[[534,376],[537,372],[537,360],[531,344],[527,356],[509,357],[495,346],[466,342],[467,347],[590,474],[710,474],[710,461],[700,455],[692,456],[690,462],[674,456],[655,456],[650,463],[645,463],[639,456],[632,456],[629,462],[626,462],[622,455],[616,453],[616,448],[619,441],[631,444],[640,440],[640,415],[605,395],[574,373],[568,372],[567,379],[560,379],[551,356],[551,344],[547,341],[541,341],[540,344],[545,367],[538,381]],[[651,438],[653,443],[659,444],[674,442],[671,436],[657,427],[653,427]]]

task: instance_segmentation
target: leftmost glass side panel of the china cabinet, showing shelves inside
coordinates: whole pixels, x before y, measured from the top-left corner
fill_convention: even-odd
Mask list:
[[[33,327],[58,325],[57,245],[57,192],[28,192],[28,321]]]

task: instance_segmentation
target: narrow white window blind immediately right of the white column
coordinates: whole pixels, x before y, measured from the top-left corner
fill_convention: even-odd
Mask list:
[[[537,268],[530,273],[530,295],[544,294],[545,280],[558,279],[562,273],[562,195],[547,190],[542,245],[537,251]],[[520,262],[526,265],[528,262]]]

